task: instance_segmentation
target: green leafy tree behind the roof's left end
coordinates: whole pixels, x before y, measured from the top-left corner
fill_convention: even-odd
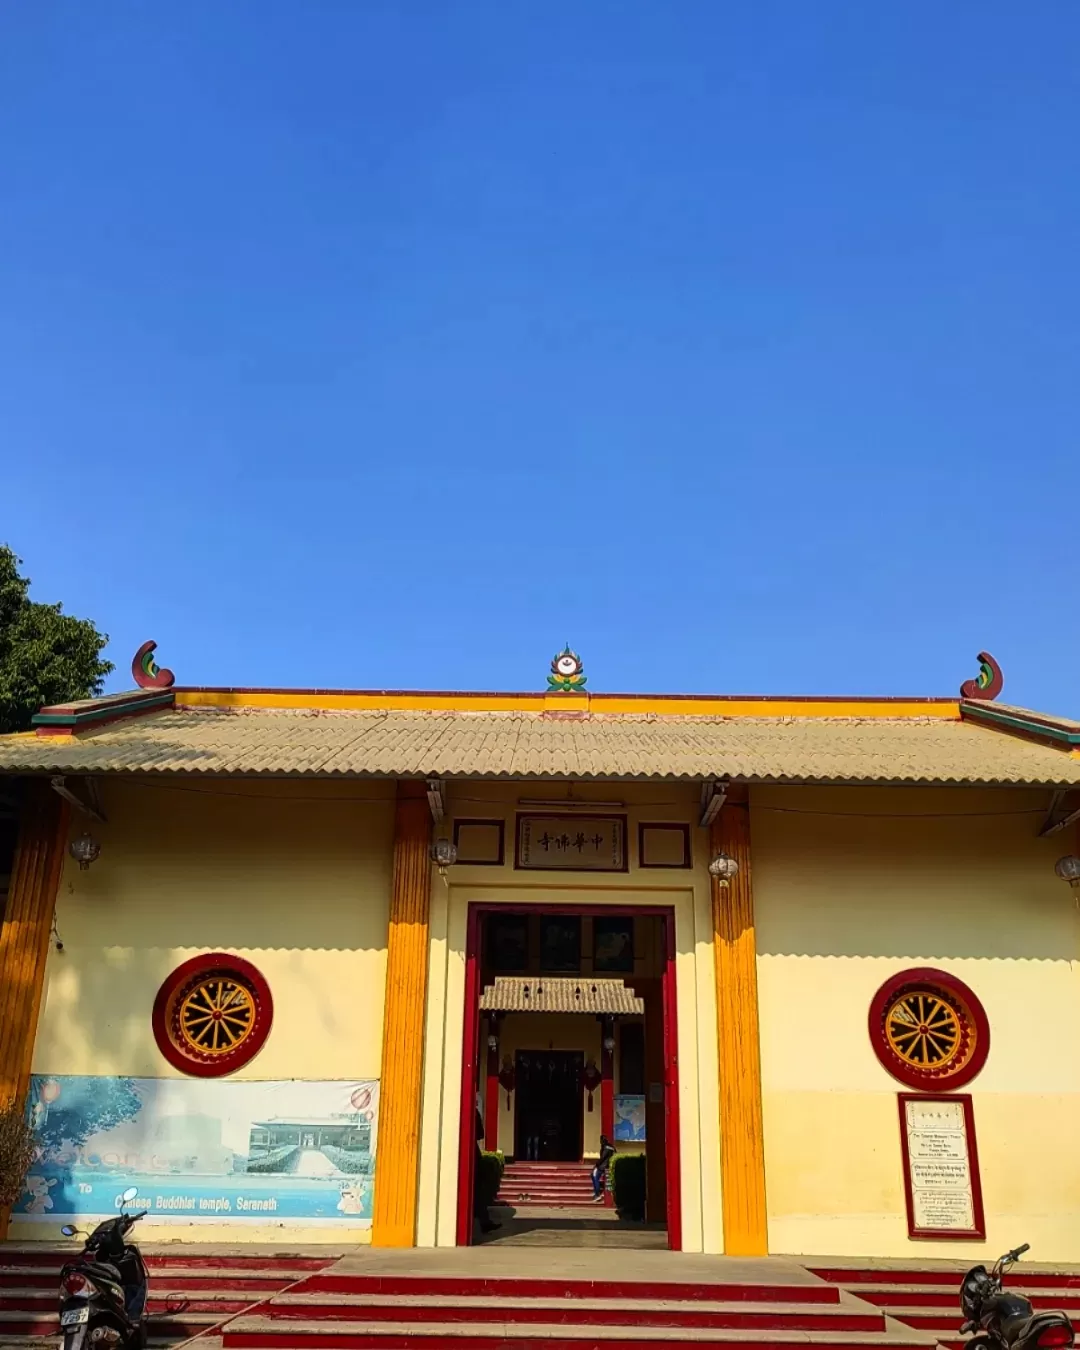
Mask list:
[[[100,694],[112,670],[101,660],[108,637],[89,618],[32,601],[20,564],[0,544],[0,733],[27,730],[46,703]]]

